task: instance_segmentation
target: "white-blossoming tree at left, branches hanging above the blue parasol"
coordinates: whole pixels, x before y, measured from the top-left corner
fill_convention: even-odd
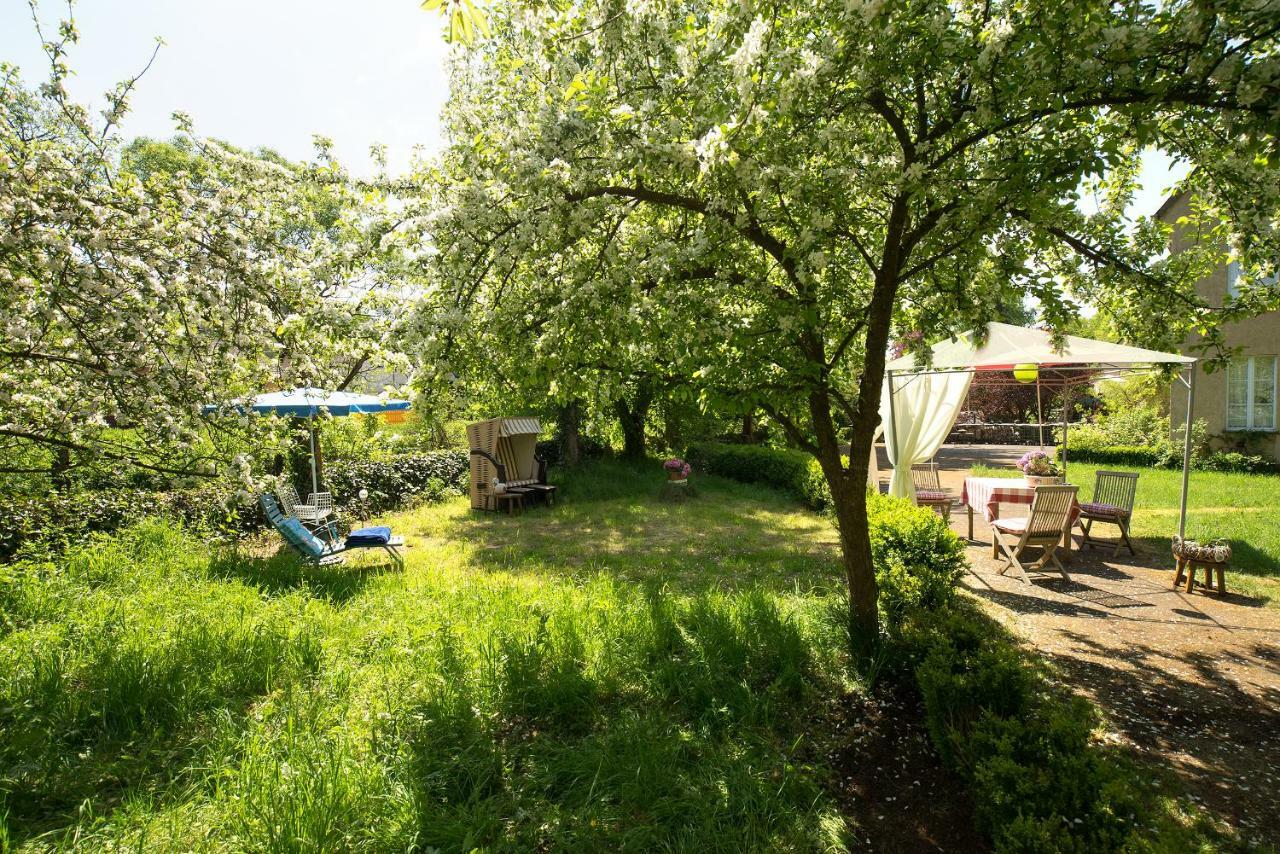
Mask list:
[[[191,136],[122,155],[134,81],[95,119],[63,86],[74,41],[46,40],[36,91],[0,65],[0,449],[209,474],[204,403],[381,352],[380,200],[324,159]]]

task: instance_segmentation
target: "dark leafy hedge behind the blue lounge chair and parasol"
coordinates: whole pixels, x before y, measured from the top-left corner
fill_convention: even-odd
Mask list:
[[[387,462],[333,461],[325,467],[334,503],[353,508],[361,489],[369,490],[361,510],[383,512],[408,501],[465,489],[466,451],[408,455]],[[182,492],[78,492],[38,498],[0,497],[0,560],[24,543],[60,548],[97,531],[114,531],[145,516],[164,516],[207,536],[234,538],[266,522],[256,502],[243,502],[225,485]]]

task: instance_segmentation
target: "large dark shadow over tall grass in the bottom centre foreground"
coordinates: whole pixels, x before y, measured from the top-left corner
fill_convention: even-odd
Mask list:
[[[815,712],[813,653],[767,597],[650,592],[609,638],[625,665],[608,673],[584,667],[590,617],[562,620],[498,638],[484,688],[458,650],[435,652],[442,679],[394,722],[420,844],[818,848],[828,808],[796,737]]]

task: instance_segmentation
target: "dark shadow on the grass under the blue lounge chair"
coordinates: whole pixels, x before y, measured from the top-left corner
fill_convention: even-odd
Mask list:
[[[269,595],[307,590],[334,604],[358,595],[378,575],[390,571],[396,571],[390,561],[315,566],[287,549],[280,549],[271,557],[255,557],[228,549],[218,553],[209,563],[209,572],[214,577],[239,580]]]

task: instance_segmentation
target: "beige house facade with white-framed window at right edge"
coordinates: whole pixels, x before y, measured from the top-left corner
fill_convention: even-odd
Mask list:
[[[1174,224],[1189,213],[1187,193],[1176,193],[1157,211],[1157,219]],[[1179,252],[1194,246],[1198,236],[1190,228],[1175,228],[1170,251]],[[1235,293],[1238,266],[1233,262],[1219,268],[1196,283],[1196,289],[1210,305],[1222,305]],[[1215,447],[1263,453],[1280,460],[1280,431],[1277,431],[1277,383],[1280,383],[1280,311],[1239,320],[1224,328],[1229,347],[1239,348],[1226,370],[1207,373],[1197,366],[1196,403],[1192,416],[1208,424]],[[1189,339],[1183,352],[1190,352]],[[1170,397],[1170,416],[1174,429],[1187,420],[1187,389],[1175,383]]]

